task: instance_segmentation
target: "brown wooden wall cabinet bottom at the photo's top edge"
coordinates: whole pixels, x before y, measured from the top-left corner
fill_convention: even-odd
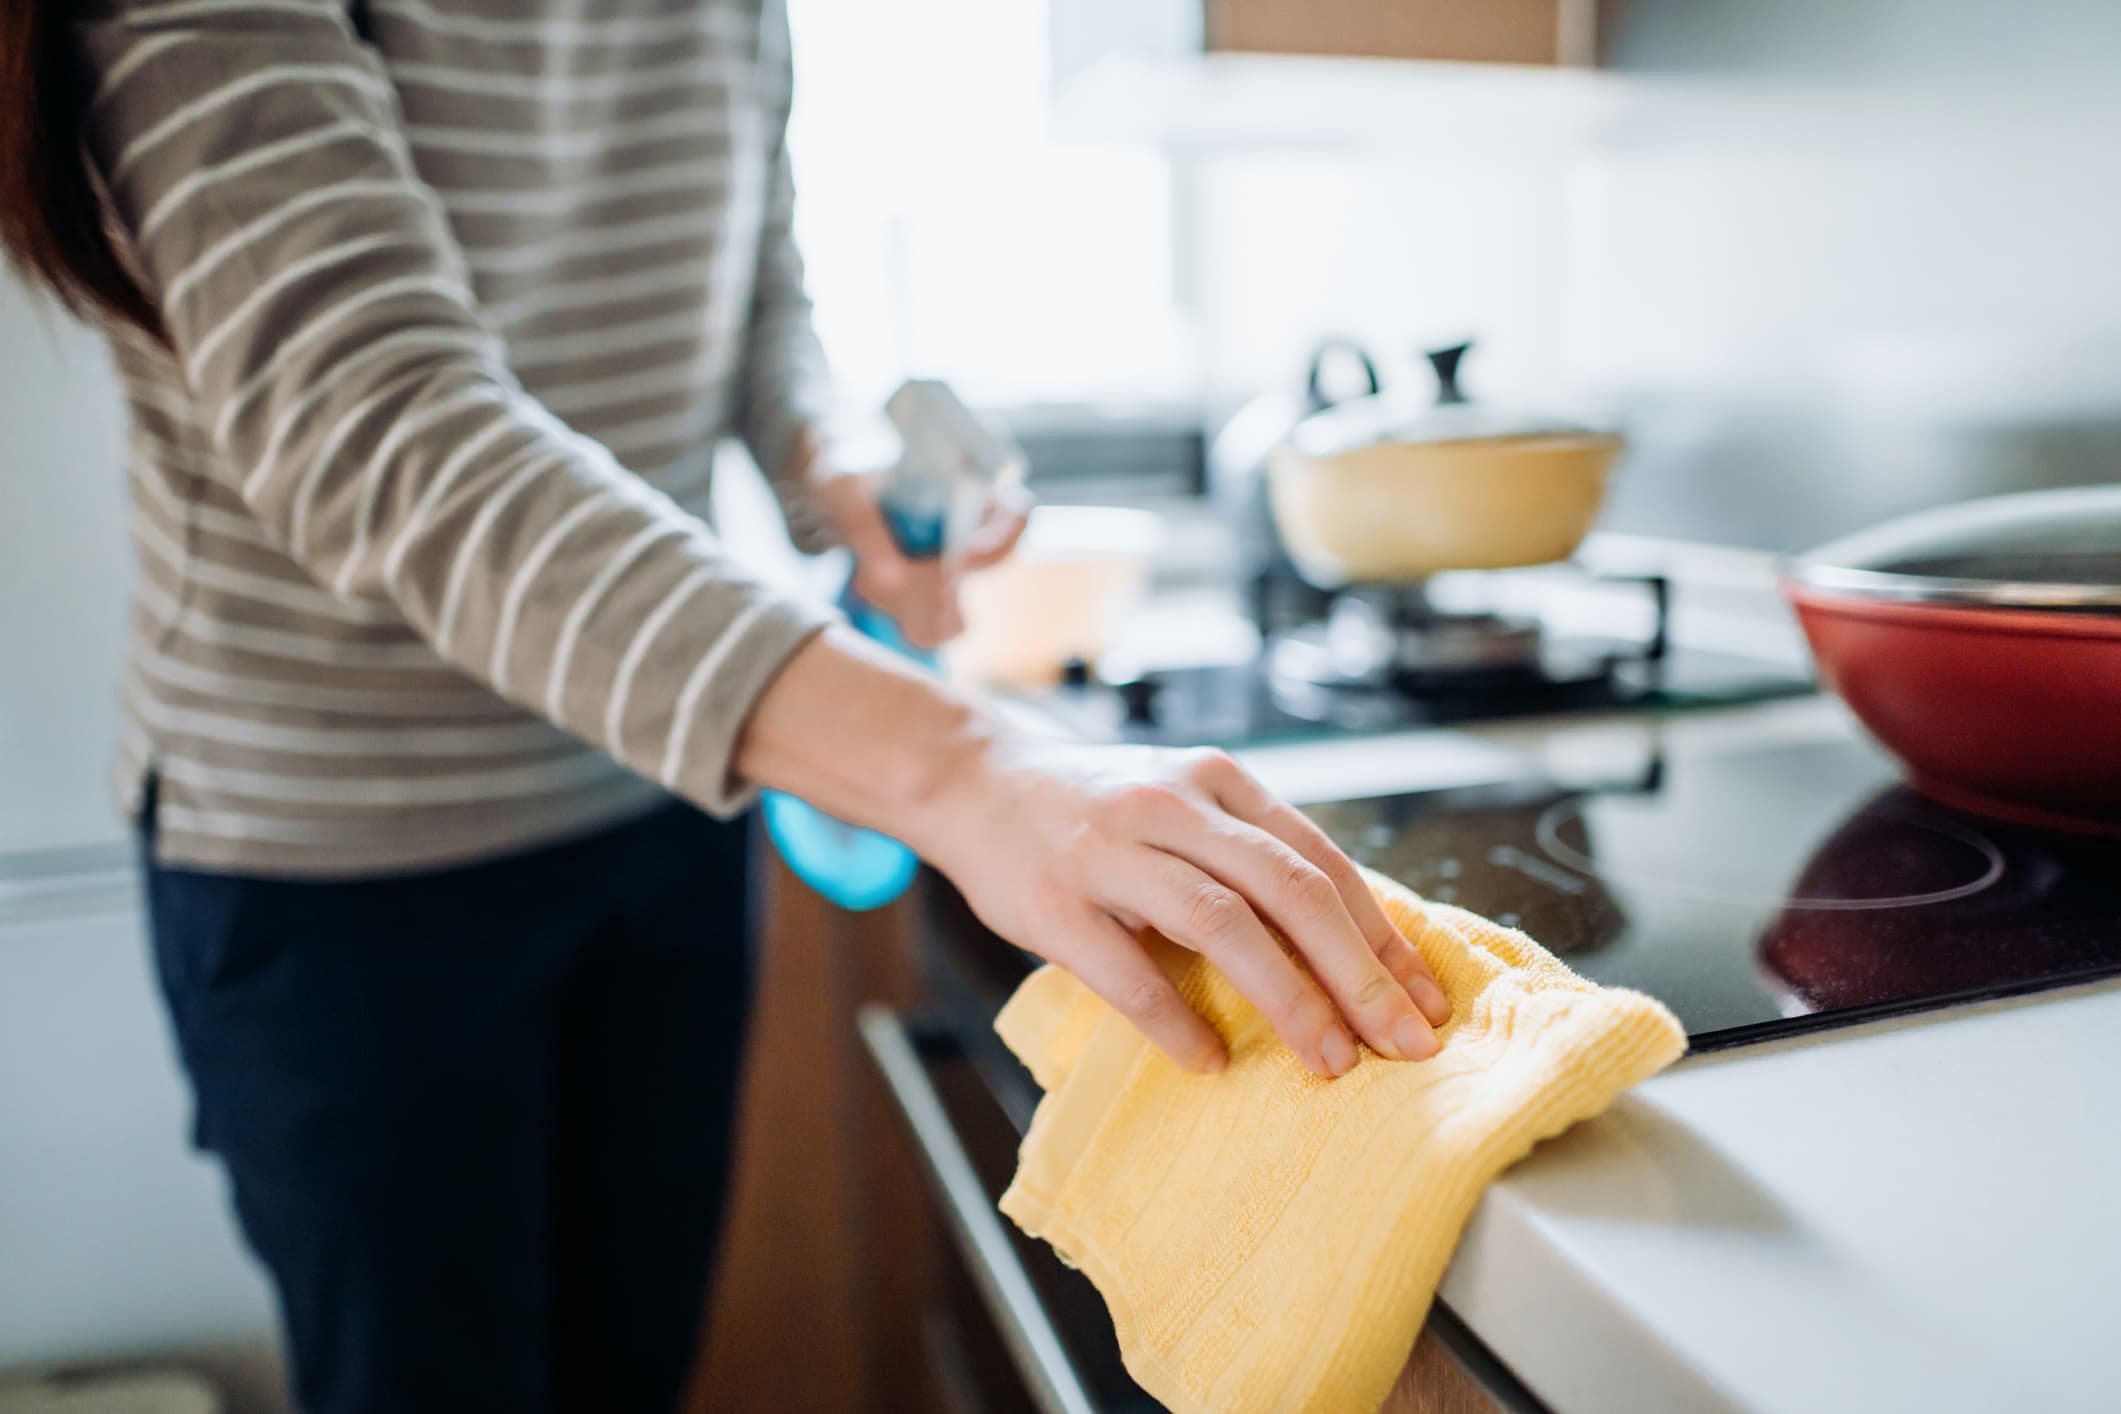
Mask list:
[[[1589,66],[1599,8],[1599,0],[1205,0],[1203,38],[1209,53]]]

